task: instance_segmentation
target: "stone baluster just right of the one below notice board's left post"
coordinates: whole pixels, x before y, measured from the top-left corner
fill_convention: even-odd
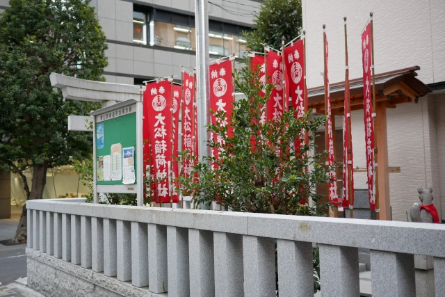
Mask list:
[[[104,218],[104,275],[116,276],[116,221]]]

